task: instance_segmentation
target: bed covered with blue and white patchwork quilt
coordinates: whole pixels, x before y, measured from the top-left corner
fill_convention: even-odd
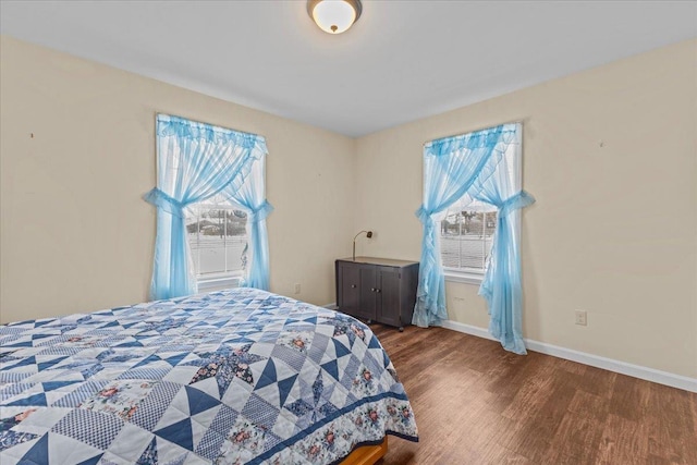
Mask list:
[[[370,328],[277,294],[0,326],[3,465],[372,463],[386,435],[418,440]]]

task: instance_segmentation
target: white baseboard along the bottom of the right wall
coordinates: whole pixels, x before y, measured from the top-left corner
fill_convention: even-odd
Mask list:
[[[472,325],[465,325],[453,320],[443,321],[443,328],[451,329],[453,331],[464,332],[466,334],[476,335],[478,338],[485,338],[494,340],[489,331],[475,327]],[[653,368],[643,367],[640,365],[627,364],[626,362],[620,362],[612,358],[601,357],[599,355],[592,355],[585,352],[574,351],[573,348],[560,347],[559,345],[552,345],[545,342],[533,341],[525,339],[525,346],[530,351],[539,352],[541,354],[551,355],[553,357],[564,358],[566,360],[577,362],[584,365],[590,365],[591,367],[602,368],[609,371],[627,375],[634,378],[644,379],[647,381],[657,382],[659,384],[670,386],[672,388],[683,389],[685,391],[697,392],[697,379],[688,378],[686,376],[674,375],[668,371],[661,371]]]

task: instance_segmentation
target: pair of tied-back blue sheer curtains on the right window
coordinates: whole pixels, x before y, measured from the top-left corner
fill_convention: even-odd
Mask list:
[[[504,348],[525,353],[519,245],[512,212],[534,199],[519,189],[505,157],[509,146],[519,144],[519,124],[504,124],[425,146],[424,204],[416,212],[424,224],[424,238],[413,323],[438,326],[448,319],[438,224],[448,207],[468,195],[498,210],[491,259],[480,287],[491,315],[490,331]]]

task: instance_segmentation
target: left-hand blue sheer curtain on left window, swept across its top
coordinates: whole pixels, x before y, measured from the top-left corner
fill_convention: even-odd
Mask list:
[[[239,191],[267,149],[261,136],[166,114],[157,117],[156,136],[158,182],[144,199],[157,207],[150,297],[160,299],[197,291],[186,206]]]

